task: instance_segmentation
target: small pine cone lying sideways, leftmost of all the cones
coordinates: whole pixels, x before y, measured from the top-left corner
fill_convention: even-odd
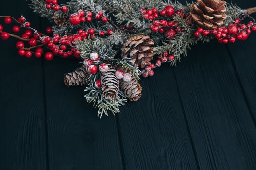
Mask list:
[[[64,75],[64,83],[68,87],[76,85],[87,85],[89,74],[86,72],[86,66],[77,68],[75,71]]]

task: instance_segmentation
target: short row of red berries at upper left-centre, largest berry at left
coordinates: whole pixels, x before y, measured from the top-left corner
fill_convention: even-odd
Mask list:
[[[107,17],[103,17],[103,12],[99,11],[97,13],[93,13],[91,11],[87,11],[86,14],[83,10],[79,10],[77,13],[71,14],[69,17],[69,21],[72,25],[78,25],[81,22],[92,22],[93,19],[100,20],[102,22],[108,22]]]

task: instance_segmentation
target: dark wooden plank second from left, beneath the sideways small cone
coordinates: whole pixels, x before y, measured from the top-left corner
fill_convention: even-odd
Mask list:
[[[99,119],[85,87],[64,85],[79,60],[45,61],[49,165],[52,170],[122,170],[115,117]]]

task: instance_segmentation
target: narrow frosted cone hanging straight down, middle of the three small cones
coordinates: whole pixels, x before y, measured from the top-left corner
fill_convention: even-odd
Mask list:
[[[106,99],[115,99],[118,96],[119,80],[115,76],[116,69],[109,65],[109,69],[105,73],[101,74],[101,84],[103,97]]]

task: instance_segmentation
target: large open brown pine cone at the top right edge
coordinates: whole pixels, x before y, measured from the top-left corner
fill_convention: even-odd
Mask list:
[[[190,15],[194,21],[205,28],[215,29],[223,25],[227,18],[225,1],[221,0],[197,0],[197,4],[191,4]]]

